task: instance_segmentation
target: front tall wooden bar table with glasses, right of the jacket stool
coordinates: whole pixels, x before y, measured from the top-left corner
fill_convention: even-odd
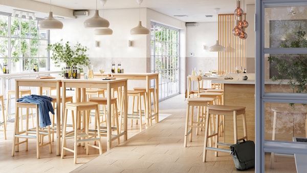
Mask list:
[[[107,125],[106,125],[106,138],[107,138],[107,150],[111,149],[112,141],[117,140],[119,137],[124,136],[124,141],[127,140],[127,79],[117,78],[112,80],[102,80],[101,78],[94,79],[62,79],[62,115],[65,113],[65,96],[66,88],[76,88],[77,89],[77,101],[85,101],[85,89],[86,88],[105,88],[107,97]],[[119,87],[123,88],[124,91],[124,132],[112,138],[111,129],[111,97],[112,89],[117,89]],[[81,94],[80,94],[80,90]],[[79,97],[81,95],[81,98]]]

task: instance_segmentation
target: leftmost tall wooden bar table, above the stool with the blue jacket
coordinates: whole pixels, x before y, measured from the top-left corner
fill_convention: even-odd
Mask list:
[[[19,98],[19,87],[39,87],[38,95],[42,93],[42,87],[51,87],[56,88],[56,107],[60,107],[60,95],[61,95],[61,79],[62,78],[53,78],[53,79],[37,79],[33,78],[16,78],[15,79],[15,98]],[[65,97],[63,97],[65,98]],[[65,104],[65,103],[64,103]],[[17,106],[15,106],[15,113],[18,111]],[[61,111],[56,109],[56,123],[61,124]],[[15,119],[15,121],[18,121]],[[18,125],[18,123],[17,123]],[[56,126],[56,155],[60,155],[61,139],[60,139],[60,129],[61,126]],[[15,133],[15,132],[14,132]],[[17,132],[18,133],[18,132]],[[18,140],[18,139],[17,139]],[[18,147],[17,147],[18,148]]]

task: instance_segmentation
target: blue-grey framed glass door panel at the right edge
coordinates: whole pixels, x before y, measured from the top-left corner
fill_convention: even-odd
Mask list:
[[[305,0],[256,1],[256,172],[305,171],[306,9]]]

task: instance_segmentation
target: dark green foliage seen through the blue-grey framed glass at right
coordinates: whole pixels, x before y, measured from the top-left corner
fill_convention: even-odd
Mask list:
[[[305,31],[298,27],[286,39],[281,41],[280,48],[307,48]],[[282,82],[289,79],[288,84],[297,93],[307,93],[307,51],[306,54],[280,54],[269,56],[271,68],[277,69],[277,74],[272,76],[273,81]]]

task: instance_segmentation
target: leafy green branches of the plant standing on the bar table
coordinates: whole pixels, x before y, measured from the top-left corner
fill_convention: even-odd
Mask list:
[[[51,60],[54,61],[56,67],[61,67],[61,70],[65,70],[65,67],[77,67],[78,72],[83,72],[83,67],[90,65],[90,58],[85,54],[88,50],[87,47],[82,46],[79,42],[73,47],[70,46],[70,42],[63,43],[63,39],[54,44],[49,44],[48,51],[52,51]]]

